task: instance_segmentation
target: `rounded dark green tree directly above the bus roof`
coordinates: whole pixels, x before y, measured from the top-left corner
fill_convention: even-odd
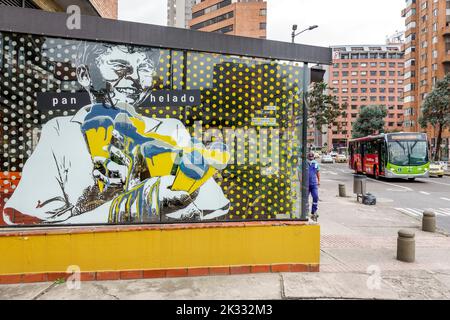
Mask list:
[[[385,106],[366,106],[361,108],[358,119],[353,124],[353,138],[384,132],[387,110]]]

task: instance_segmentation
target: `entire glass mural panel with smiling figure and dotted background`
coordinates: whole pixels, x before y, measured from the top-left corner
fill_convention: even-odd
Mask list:
[[[0,65],[0,225],[293,217],[299,67],[13,33]]]

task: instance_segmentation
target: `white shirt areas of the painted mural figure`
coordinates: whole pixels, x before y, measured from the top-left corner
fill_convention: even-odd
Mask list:
[[[81,131],[90,108],[86,106],[73,117],[54,118],[43,126],[39,143],[25,163],[22,179],[5,209],[15,209],[48,223],[108,223],[111,201],[75,217],[71,217],[70,211],[55,219],[49,214],[64,206],[65,197],[75,206],[83,192],[96,184],[92,175],[92,157]],[[170,136],[180,147],[188,146],[191,141],[185,126],[176,119],[143,117],[143,121],[146,132]],[[56,200],[45,204],[50,199]],[[198,209],[208,211],[203,217],[205,220],[225,215],[229,207],[228,199],[213,178],[199,189],[194,204]],[[177,213],[173,217],[177,217]],[[13,224],[6,214],[4,220]]]

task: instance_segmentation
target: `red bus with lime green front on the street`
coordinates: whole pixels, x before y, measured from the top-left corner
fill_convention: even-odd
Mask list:
[[[387,133],[351,140],[349,165],[357,173],[386,178],[428,178],[427,135]]]

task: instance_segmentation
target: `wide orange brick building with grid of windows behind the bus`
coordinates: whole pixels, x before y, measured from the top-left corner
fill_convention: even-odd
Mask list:
[[[361,108],[368,105],[386,106],[386,132],[402,131],[402,45],[336,46],[332,49],[329,87],[339,104],[347,104],[348,107],[346,117],[337,119],[328,132],[329,149],[347,146]]]

